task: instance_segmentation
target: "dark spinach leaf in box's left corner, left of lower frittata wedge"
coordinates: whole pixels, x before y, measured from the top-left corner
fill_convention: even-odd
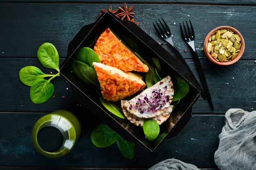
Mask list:
[[[96,72],[87,64],[81,61],[74,61],[73,70],[82,81],[89,85],[95,85],[99,87],[99,80]]]

